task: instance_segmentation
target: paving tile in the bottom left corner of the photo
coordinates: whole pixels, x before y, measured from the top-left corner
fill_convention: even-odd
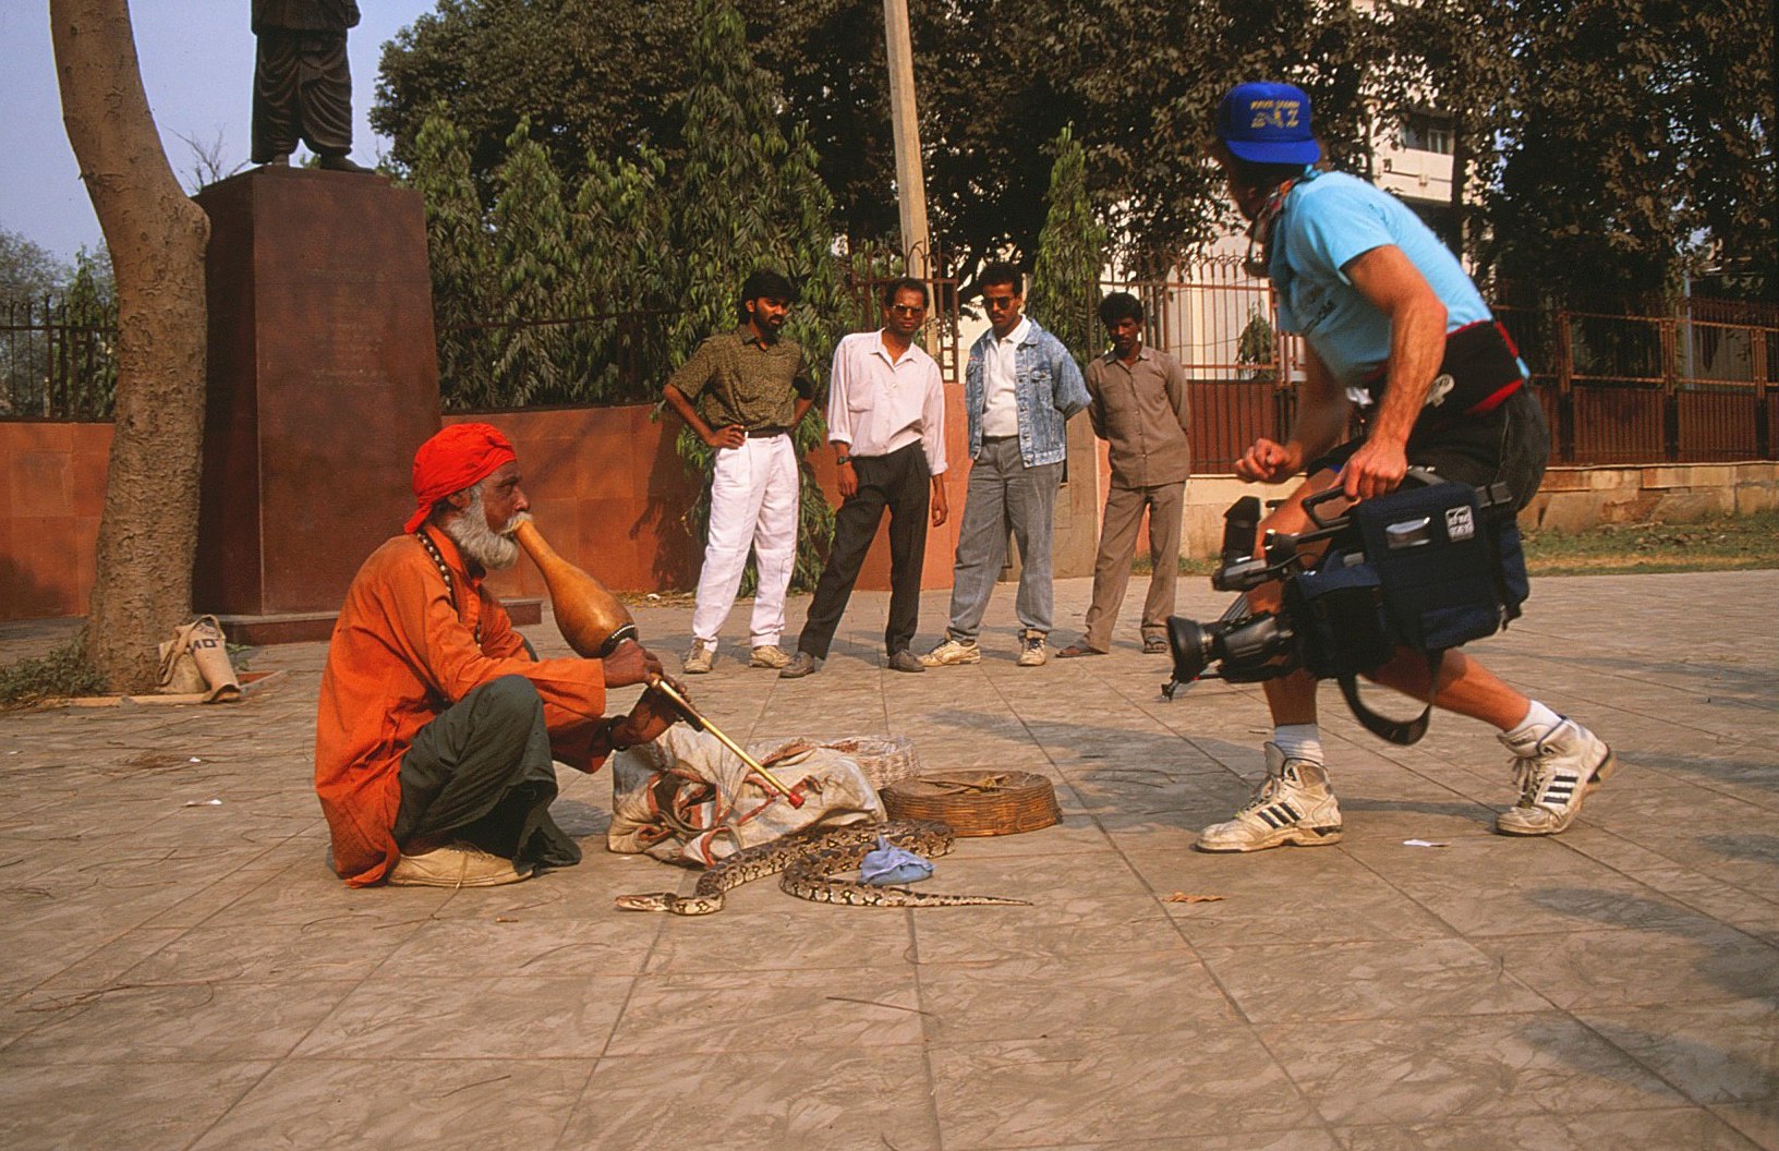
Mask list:
[[[269,1062],[21,1066],[0,1075],[0,1146],[183,1151]]]

